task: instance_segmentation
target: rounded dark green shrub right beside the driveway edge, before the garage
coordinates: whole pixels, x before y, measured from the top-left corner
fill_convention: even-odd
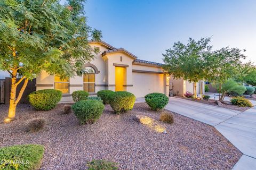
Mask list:
[[[145,96],[146,103],[153,111],[163,109],[169,102],[169,98],[161,93],[153,92]]]

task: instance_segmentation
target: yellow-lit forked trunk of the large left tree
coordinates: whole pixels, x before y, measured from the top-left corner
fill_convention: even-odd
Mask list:
[[[19,101],[23,95],[23,92],[25,91],[27,84],[28,84],[28,79],[26,79],[25,77],[21,78],[18,82],[16,82],[17,81],[17,71],[13,71],[12,74],[13,75],[12,75],[12,84],[11,84],[10,105],[9,105],[8,118],[6,118],[6,120],[5,120],[6,123],[14,120],[17,104],[19,103]],[[16,98],[17,86],[23,79],[25,79],[25,82],[19,92],[18,97]]]

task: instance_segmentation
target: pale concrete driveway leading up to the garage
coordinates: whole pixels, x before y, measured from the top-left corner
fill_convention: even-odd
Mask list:
[[[145,102],[137,98],[137,103]],[[256,167],[256,106],[245,112],[170,97],[165,109],[214,126],[244,155],[233,169]]]

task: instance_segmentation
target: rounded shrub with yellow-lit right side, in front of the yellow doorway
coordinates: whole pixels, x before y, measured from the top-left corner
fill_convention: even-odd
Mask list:
[[[130,111],[135,103],[135,96],[127,91],[116,91],[111,95],[110,106],[115,113]]]

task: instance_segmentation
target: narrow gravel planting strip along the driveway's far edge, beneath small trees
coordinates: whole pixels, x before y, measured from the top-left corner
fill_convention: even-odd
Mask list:
[[[223,108],[228,108],[228,109],[232,109],[235,111],[240,111],[240,112],[244,112],[247,109],[250,109],[251,107],[239,107],[236,105],[227,105],[227,104],[223,104],[222,106],[219,106],[217,104],[215,104],[214,102],[216,100],[214,99],[209,99],[209,100],[199,100],[199,99],[192,99],[192,98],[188,98],[188,97],[182,97],[182,96],[174,96],[176,98],[181,98],[181,99],[186,99],[186,100],[190,100],[190,101],[196,101],[198,103],[204,103],[204,104],[208,104],[208,105],[213,105],[213,106],[218,106],[218,107],[223,107]]]

